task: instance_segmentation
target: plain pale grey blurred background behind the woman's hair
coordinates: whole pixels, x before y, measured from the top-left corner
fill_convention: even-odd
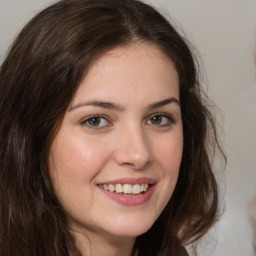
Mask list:
[[[25,22],[51,2],[0,0],[0,63]],[[201,53],[225,133],[228,165],[220,184],[226,210],[202,241],[200,256],[253,256],[246,203],[256,193],[256,0],[146,2],[169,15]]]

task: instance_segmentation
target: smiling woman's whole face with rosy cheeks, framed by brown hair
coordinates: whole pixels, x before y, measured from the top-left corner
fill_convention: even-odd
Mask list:
[[[145,43],[104,54],[80,84],[50,150],[53,186],[73,230],[146,232],[172,196],[182,147],[172,61]]]

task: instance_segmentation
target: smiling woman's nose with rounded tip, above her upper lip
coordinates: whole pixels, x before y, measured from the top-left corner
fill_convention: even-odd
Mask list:
[[[152,161],[150,141],[142,128],[120,131],[116,145],[114,160],[118,165],[142,170]]]

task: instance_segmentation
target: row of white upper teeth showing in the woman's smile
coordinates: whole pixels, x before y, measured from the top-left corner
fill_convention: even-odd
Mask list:
[[[103,184],[101,188],[110,192],[134,194],[138,195],[142,192],[146,192],[149,188],[148,184]]]

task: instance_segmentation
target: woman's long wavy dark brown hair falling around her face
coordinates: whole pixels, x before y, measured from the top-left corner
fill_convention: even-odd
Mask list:
[[[48,173],[54,135],[78,86],[106,51],[150,42],[175,64],[180,81],[184,150],[176,189],[139,255],[182,256],[218,217],[211,152],[214,119],[186,41],[137,0],[62,0],[20,32],[0,70],[0,254],[81,255]]]

